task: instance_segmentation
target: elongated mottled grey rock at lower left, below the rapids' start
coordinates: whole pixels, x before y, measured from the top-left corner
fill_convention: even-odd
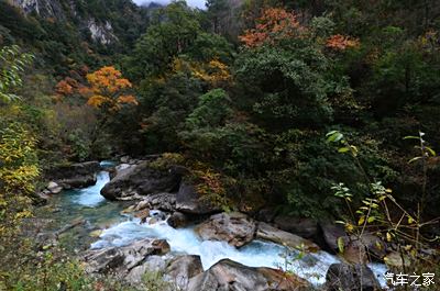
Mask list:
[[[124,247],[107,247],[89,250],[84,260],[89,273],[129,272],[142,265],[147,256],[164,255],[169,251],[169,245],[165,239],[144,238],[135,240]]]

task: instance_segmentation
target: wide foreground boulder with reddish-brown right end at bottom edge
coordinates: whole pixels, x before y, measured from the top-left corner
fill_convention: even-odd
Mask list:
[[[289,282],[286,282],[286,278]],[[189,280],[187,291],[290,291],[311,286],[294,276],[270,268],[252,268],[223,259]]]

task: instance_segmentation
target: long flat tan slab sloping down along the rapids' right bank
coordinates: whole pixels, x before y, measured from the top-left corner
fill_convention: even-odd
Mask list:
[[[280,245],[285,245],[296,249],[304,249],[310,253],[316,253],[319,250],[319,246],[315,243],[295,234],[278,230],[264,222],[258,223],[258,227],[256,230],[256,238],[271,240]]]

